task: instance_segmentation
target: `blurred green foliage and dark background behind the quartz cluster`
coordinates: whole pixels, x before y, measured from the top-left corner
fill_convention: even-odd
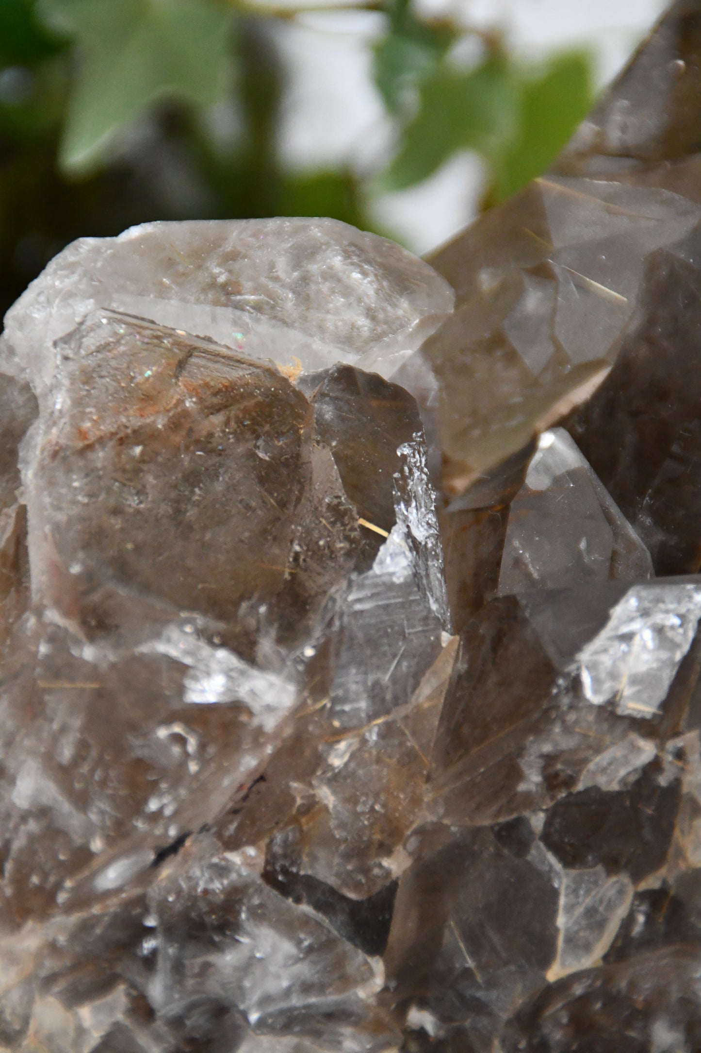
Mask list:
[[[149,219],[334,216],[371,230],[369,195],[466,148],[484,158],[493,204],[548,165],[590,105],[583,53],[528,65],[498,35],[421,19],[410,0],[354,6],[384,13],[373,75],[396,130],[394,156],[365,180],[281,165],[271,29],[292,8],[0,0],[0,309],[74,238]],[[471,35],[481,57],[465,66]],[[211,113],[227,100],[242,131],[223,144]]]

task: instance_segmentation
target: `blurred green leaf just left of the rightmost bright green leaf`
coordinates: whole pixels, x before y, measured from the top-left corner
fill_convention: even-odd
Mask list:
[[[489,58],[467,73],[444,63],[420,85],[420,103],[383,184],[404,190],[459,150],[493,153],[514,135],[519,93],[508,64]]]

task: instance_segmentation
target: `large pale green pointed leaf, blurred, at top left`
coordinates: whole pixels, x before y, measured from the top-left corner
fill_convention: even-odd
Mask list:
[[[79,48],[60,150],[66,172],[94,166],[154,99],[208,105],[223,91],[230,16],[208,0],[39,0],[38,12]]]

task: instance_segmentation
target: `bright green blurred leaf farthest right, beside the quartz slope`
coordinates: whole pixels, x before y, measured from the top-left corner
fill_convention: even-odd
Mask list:
[[[544,172],[592,104],[591,60],[570,52],[551,59],[521,87],[517,134],[496,159],[489,204],[510,197]]]

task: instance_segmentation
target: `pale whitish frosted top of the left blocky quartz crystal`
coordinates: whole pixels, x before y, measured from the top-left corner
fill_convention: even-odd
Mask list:
[[[59,253],[7,313],[6,359],[11,372],[51,385],[46,349],[90,311],[111,309],[293,375],[349,362],[389,377],[453,299],[410,253],[336,220],[147,223]]]

